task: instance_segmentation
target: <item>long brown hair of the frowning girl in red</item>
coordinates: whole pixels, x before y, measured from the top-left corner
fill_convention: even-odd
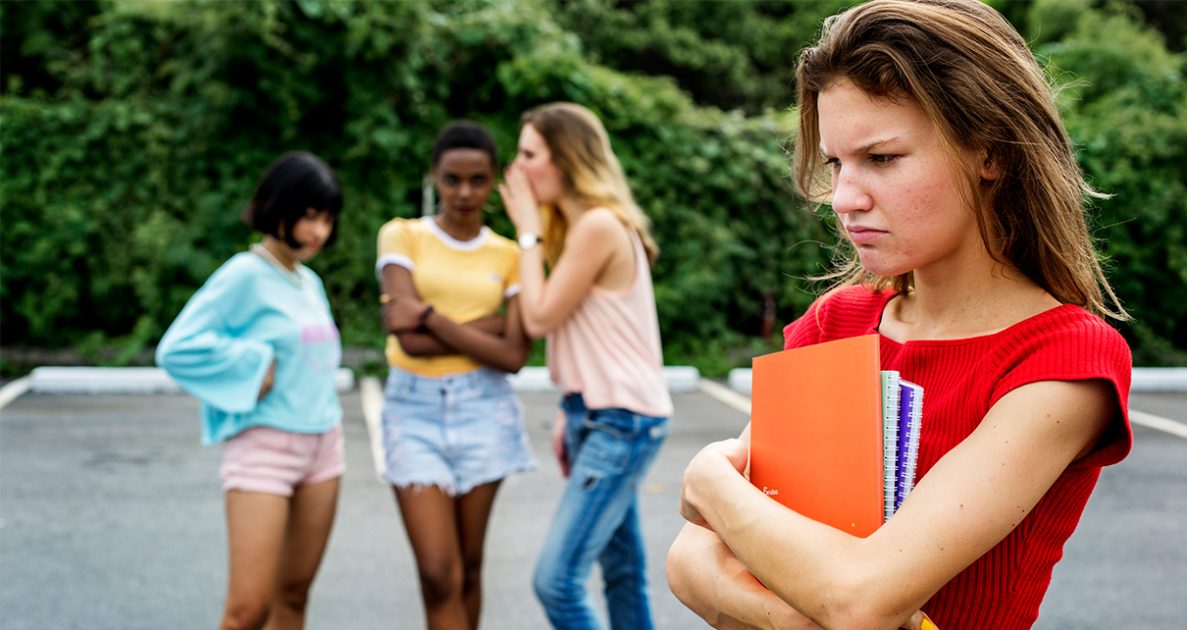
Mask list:
[[[878,98],[913,102],[956,157],[985,151],[999,171],[966,171],[982,242],[1064,304],[1129,319],[1100,267],[1084,180],[1050,87],[1026,42],[977,0],[874,0],[829,18],[799,59],[795,183],[815,202],[829,193],[819,151],[817,97],[848,78]],[[957,160],[964,164],[960,160]],[[906,292],[912,274],[877,278],[856,253],[827,278]]]

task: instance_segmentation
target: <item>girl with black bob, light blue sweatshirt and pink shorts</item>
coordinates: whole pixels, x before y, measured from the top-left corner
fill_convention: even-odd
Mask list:
[[[342,357],[322,280],[304,266],[334,242],[342,191],[310,153],[286,153],[243,212],[261,242],[190,298],[157,364],[202,402],[223,444],[230,579],[220,628],[303,628],[345,469]]]

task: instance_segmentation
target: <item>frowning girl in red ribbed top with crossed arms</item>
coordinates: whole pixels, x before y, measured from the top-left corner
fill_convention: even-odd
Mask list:
[[[882,368],[925,390],[918,484],[859,539],[751,486],[748,432],[711,444],[685,471],[672,591],[718,626],[1029,628],[1131,445],[1130,354],[1100,319],[1128,316],[1050,90],[976,0],[834,17],[798,89],[796,183],[855,255],[786,346],[882,336]]]

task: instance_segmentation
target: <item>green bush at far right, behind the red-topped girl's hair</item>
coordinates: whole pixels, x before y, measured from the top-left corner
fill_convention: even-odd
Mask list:
[[[1040,2],[1035,21],[1050,11]],[[1046,21],[1050,21],[1049,19]],[[1098,203],[1096,236],[1135,320],[1137,364],[1187,364],[1187,87],[1183,55],[1121,12],[1075,14],[1042,44]]]

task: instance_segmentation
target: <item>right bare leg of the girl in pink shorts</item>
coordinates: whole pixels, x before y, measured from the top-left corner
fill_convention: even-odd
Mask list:
[[[305,628],[305,606],[334,527],[339,478],[296,489],[272,599],[271,630]]]

